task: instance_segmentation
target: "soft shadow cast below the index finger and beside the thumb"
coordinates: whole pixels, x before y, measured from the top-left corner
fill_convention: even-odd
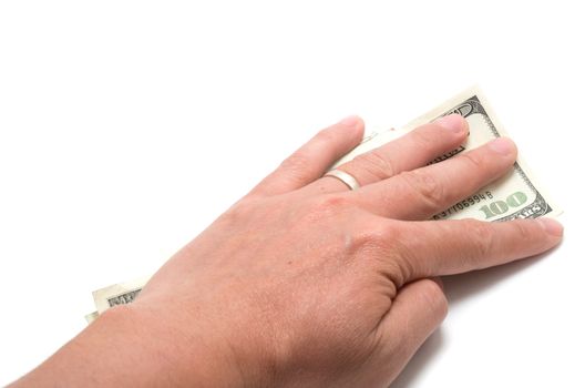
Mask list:
[[[491,267],[481,270],[474,270],[466,274],[451,275],[442,277],[444,290],[450,306],[455,306],[458,303],[474,294],[482,293],[484,289],[491,287],[496,282],[502,282],[525,267],[533,265],[535,262],[550,255],[556,249],[553,248],[546,253],[533,256],[531,258],[509,263],[497,267]],[[417,354],[411,358],[409,364],[404,367],[398,378],[391,384],[391,388],[407,388],[413,387],[417,382],[422,368],[430,363],[444,346],[444,334],[439,328],[433,333],[429,339],[419,348]]]

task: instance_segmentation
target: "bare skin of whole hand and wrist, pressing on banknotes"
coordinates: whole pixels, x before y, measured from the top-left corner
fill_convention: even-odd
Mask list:
[[[362,134],[319,132],[13,386],[388,387],[447,315],[439,276],[561,242],[553,219],[427,221],[509,171],[512,141],[427,166],[465,141],[452,115],[340,166],[357,191],[324,177]]]

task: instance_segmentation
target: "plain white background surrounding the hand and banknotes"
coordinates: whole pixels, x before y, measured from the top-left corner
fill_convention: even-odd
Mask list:
[[[447,279],[450,316],[394,386],[585,386],[578,6],[0,2],[0,385],[318,129],[401,125],[479,82],[565,241]]]

